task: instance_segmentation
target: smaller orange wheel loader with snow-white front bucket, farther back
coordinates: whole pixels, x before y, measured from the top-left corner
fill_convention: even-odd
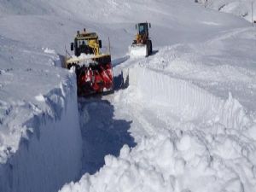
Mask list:
[[[148,22],[136,25],[137,35],[129,48],[131,56],[148,56],[152,54],[152,41],[148,36],[148,28],[151,28],[151,24]]]

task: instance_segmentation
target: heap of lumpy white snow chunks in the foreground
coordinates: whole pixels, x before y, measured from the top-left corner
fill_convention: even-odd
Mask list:
[[[93,176],[85,174],[79,183],[65,185],[61,192],[241,192],[255,189],[255,171],[251,162],[247,162],[242,154],[236,161],[224,160],[204,142],[196,135],[177,135],[172,131],[144,138],[132,150],[127,146],[122,148],[119,158],[108,155],[106,166],[100,172]],[[236,148],[228,139],[226,143],[212,141],[210,145],[218,145],[228,154]],[[243,172],[247,172],[248,177]]]

